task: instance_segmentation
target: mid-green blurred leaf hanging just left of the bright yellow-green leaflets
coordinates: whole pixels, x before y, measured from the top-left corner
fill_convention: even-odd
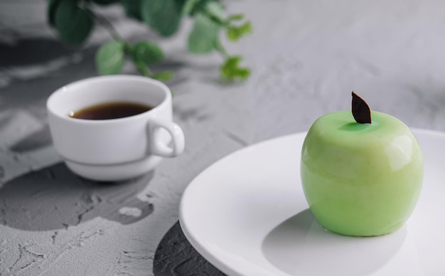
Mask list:
[[[193,23],[193,29],[188,35],[188,51],[191,53],[210,53],[215,49],[220,25],[207,16],[198,14]]]

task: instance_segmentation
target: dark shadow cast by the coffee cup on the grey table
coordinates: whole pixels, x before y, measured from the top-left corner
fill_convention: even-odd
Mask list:
[[[75,176],[55,164],[4,184],[0,189],[0,223],[21,230],[54,230],[96,217],[135,223],[153,212],[137,195],[151,172],[130,181],[104,183]]]

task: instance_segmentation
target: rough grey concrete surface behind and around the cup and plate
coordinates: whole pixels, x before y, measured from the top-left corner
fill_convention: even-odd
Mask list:
[[[104,11],[125,38],[165,49],[155,69],[176,73],[168,85],[187,143],[152,174],[103,185],[60,163],[45,100],[97,75],[94,53],[109,36],[97,28],[70,48],[48,28],[45,1],[0,1],[0,275],[215,275],[181,235],[183,190],[230,152],[349,109],[352,90],[409,127],[445,131],[443,1],[250,0],[227,9],[254,26],[226,43],[252,68],[246,83],[220,83],[218,55],[186,52],[190,22],[161,39],[119,9]]]

